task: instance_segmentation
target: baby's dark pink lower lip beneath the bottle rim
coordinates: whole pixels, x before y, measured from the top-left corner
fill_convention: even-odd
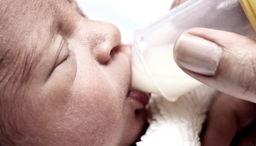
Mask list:
[[[149,94],[138,90],[130,91],[128,94],[128,98],[136,102],[137,109],[143,109],[149,103]]]

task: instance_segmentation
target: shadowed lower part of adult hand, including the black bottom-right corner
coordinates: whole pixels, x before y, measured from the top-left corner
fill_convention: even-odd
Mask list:
[[[207,112],[203,146],[255,146],[256,104],[221,93]]]

